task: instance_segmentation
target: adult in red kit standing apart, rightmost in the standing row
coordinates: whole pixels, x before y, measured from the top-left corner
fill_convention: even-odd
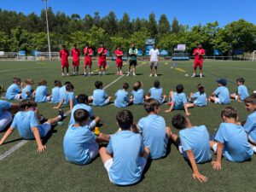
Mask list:
[[[194,50],[193,56],[195,56],[195,62],[194,62],[194,73],[192,75],[192,78],[195,78],[196,69],[199,66],[200,69],[200,77],[202,78],[202,67],[203,67],[203,61],[204,61],[204,55],[206,55],[205,49],[202,49],[201,44],[198,44],[198,47]]]

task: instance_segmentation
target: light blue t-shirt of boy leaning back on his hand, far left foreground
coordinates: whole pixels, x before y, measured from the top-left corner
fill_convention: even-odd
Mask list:
[[[34,139],[32,127],[38,127],[40,137],[44,137],[45,131],[41,125],[38,125],[38,116],[34,111],[18,112],[15,114],[15,119],[11,128],[18,129],[20,137],[24,139]]]

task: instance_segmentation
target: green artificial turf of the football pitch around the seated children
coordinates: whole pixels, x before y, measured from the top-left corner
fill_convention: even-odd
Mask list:
[[[36,89],[38,80],[46,79],[49,90],[51,90],[54,80],[60,79],[62,83],[71,81],[76,95],[85,93],[90,96],[95,89],[94,82],[96,80],[102,80],[103,85],[106,86],[119,78],[115,75],[114,62],[110,63],[108,75],[101,77],[94,75],[90,78],[84,78],[82,75],[62,78],[60,66],[58,61],[0,61],[0,84],[7,88],[14,77],[19,77],[22,80],[32,78],[35,82],[33,88]],[[207,96],[210,96],[212,91],[217,88],[215,80],[219,78],[229,80],[230,93],[236,92],[236,78],[239,77],[246,79],[245,84],[250,93],[256,90],[255,62],[205,61],[205,78],[203,79],[191,79],[193,61],[177,61],[177,66],[174,68],[172,68],[172,61],[160,62],[158,78],[149,78],[148,62],[140,61],[139,66],[137,77],[119,79],[108,87],[108,95],[114,96],[114,93],[121,89],[125,82],[130,84],[129,92],[131,92],[132,85],[137,80],[143,82],[143,89],[147,91],[153,86],[154,79],[160,80],[166,95],[170,90],[175,89],[176,84],[184,85],[184,92],[187,96],[191,91],[196,91],[197,84],[204,84]],[[96,63],[94,63],[94,69],[96,69]],[[82,73],[81,68],[80,73]],[[185,76],[185,74],[189,74],[189,76]],[[248,113],[243,103],[232,101],[230,105],[238,108],[241,120],[246,119]],[[53,109],[54,106],[56,105],[51,103],[38,104],[41,113],[48,118],[57,114],[57,111]],[[184,114],[183,111],[164,113],[167,108],[169,107],[166,104],[161,106],[160,113],[166,119],[167,125],[171,125],[171,118],[174,114]],[[222,108],[224,106],[209,103],[206,108],[189,109],[192,114],[190,117],[192,124],[206,125],[211,136],[214,128],[218,128],[222,121],[220,118]],[[102,132],[117,131],[115,115],[121,109],[115,108],[113,105],[93,109],[96,116],[100,116],[102,119],[103,125],[100,128]],[[143,106],[131,106],[128,109],[134,114],[136,122],[147,115]],[[67,111],[68,108],[64,108],[64,110]],[[244,163],[231,163],[223,160],[223,169],[218,172],[212,169],[211,163],[198,165],[200,172],[209,179],[207,183],[200,183],[192,177],[191,168],[173,145],[165,158],[148,162],[148,170],[140,183],[128,187],[115,186],[109,182],[108,173],[99,157],[87,166],[75,166],[67,163],[63,154],[62,142],[68,121],[69,117],[64,120],[64,125],[56,126],[55,130],[50,132],[46,141],[47,149],[44,153],[39,154],[37,143],[29,141],[0,161],[0,191],[255,191],[256,159],[254,156],[253,160]],[[175,129],[172,131],[177,133]],[[3,137],[3,134],[4,132],[0,133],[0,137]],[[15,131],[7,143],[0,147],[0,154],[20,143],[19,139],[19,134]],[[216,159],[216,155],[213,153],[212,159]]]

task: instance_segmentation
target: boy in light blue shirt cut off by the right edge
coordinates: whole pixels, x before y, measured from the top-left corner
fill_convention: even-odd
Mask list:
[[[244,100],[244,103],[247,111],[251,114],[248,115],[243,128],[247,132],[249,142],[256,145],[256,94],[253,93],[252,96],[248,96]]]

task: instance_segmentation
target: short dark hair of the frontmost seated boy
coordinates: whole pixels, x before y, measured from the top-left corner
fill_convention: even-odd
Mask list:
[[[122,110],[117,113],[116,120],[121,130],[130,130],[133,124],[133,115],[129,110]]]

